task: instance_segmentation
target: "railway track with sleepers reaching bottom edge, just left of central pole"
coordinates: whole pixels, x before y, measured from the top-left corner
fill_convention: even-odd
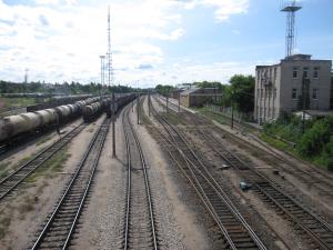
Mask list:
[[[78,169],[31,250],[67,249],[87,200],[109,131],[105,119],[94,133]]]

